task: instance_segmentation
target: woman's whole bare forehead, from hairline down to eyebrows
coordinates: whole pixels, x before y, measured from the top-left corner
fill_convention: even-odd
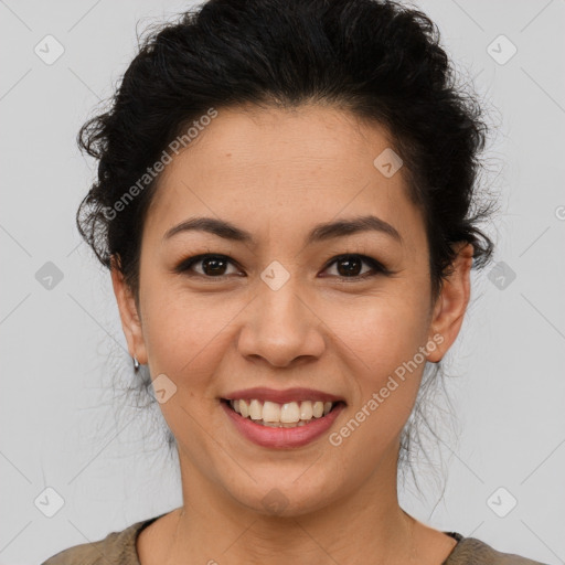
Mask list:
[[[402,168],[387,178],[374,164],[391,146],[384,127],[331,107],[220,109],[166,167],[146,231],[162,236],[193,215],[270,231],[340,214],[414,223]]]

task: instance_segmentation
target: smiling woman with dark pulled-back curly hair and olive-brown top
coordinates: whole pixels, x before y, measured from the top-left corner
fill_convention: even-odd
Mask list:
[[[486,126],[438,41],[392,2],[211,0],[141,46],[82,130],[78,226],[183,505],[46,565],[534,563],[397,499],[424,370],[492,253]]]

